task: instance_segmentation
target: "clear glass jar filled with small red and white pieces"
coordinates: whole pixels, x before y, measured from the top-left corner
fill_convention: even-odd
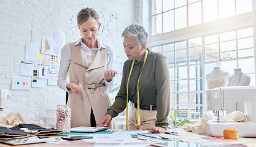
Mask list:
[[[62,130],[63,134],[70,132],[71,109],[69,105],[57,105],[56,109],[56,129]]]

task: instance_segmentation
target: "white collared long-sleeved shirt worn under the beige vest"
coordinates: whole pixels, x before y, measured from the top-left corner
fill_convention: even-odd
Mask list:
[[[98,48],[88,48],[83,42],[82,42],[83,37],[81,37],[79,40],[77,40],[77,43],[81,43],[81,48],[83,50],[83,53],[85,54],[85,56],[87,57],[88,61],[93,61],[96,52],[100,49],[100,48],[106,48],[101,42],[99,42],[98,39]],[[76,43],[76,44],[77,44]],[[113,67],[113,51],[111,50],[111,48],[108,48],[107,51],[107,69],[112,69]],[[62,51],[61,51],[61,62],[60,62],[60,70],[59,70],[59,74],[58,74],[58,86],[63,89],[64,91],[68,91],[68,89],[66,88],[66,85],[68,85],[69,81],[67,81],[68,79],[68,67],[70,65],[70,47],[69,47],[69,43],[64,45]],[[106,79],[104,79],[104,83],[106,85],[107,91],[110,91],[113,86],[114,86],[114,78],[112,79],[112,81],[107,82]],[[70,91],[69,91],[70,92]]]

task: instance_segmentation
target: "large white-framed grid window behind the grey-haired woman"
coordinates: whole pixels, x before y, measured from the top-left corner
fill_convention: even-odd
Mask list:
[[[151,8],[149,47],[166,56],[171,113],[179,109],[180,118],[203,116],[205,75],[214,66],[230,75],[241,68],[255,86],[252,1],[152,0]]]

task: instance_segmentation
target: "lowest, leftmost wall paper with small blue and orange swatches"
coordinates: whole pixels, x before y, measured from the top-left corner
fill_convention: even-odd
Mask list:
[[[31,89],[31,77],[13,75],[12,76],[12,89],[30,90]]]

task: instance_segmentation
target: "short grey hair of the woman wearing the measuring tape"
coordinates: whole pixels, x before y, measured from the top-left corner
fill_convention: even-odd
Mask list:
[[[141,47],[143,43],[147,44],[149,35],[143,26],[133,23],[125,28],[122,37],[136,37],[136,43]]]

